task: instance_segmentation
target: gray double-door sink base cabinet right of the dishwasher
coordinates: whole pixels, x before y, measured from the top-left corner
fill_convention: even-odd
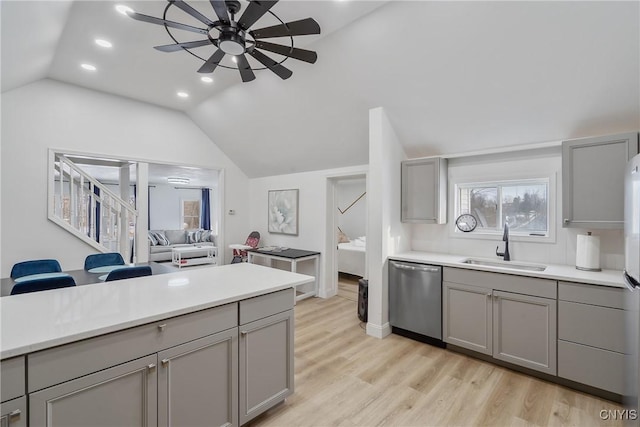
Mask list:
[[[556,374],[556,282],[444,269],[444,341]]]

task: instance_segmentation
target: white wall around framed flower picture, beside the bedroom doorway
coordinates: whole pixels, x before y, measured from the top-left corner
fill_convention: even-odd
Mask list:
[[[337,176],[366,173],[366,166],[327,169],[321,171],[255,178],[249,181],[251,214],[249,228],[244,231],[244,243],[249,232],[260,232],[260,246],[284,246],[321,252],[319,294],[327,297],[335,293],[329,279],[331,270],[326,264],[325,240],[327,228],[327,179]],[[272,234],[267,228],[267,197],[269,190],[299,189],[298,235]],[[230,242],[233,243],[233,242]],[[311,263],[307,263],[311,264]],[[313,274],[310,266],[302,266],[301,273]]]

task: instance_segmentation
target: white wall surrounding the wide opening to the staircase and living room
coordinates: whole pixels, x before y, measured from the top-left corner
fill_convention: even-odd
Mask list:
[[[47,149],[224,169],[227,241],[246,238],[248,178],[185,114],[53,80],[2,94],[2,260],[57,258],[82,268],[94,250],[47,220]],[[230,251],[227,260],[230,260]]]

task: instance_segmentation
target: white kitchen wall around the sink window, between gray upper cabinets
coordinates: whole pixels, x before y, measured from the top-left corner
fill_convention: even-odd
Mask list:
[[[491,154],[449,159],[448,221],[444,225],[414,224],[411,249],[451,253],[466,256],[495,257],[496,246],[502,249],[502,236],[485,239],[454,236],[453,186],[455,182],[478,182],[518,178],[555,178],[555,199],[551,212],[555,241],[525,242],[511,238],[512,260],[575,265],[576,235],[592,231],[600,236],[602,268],[622,269],[624,266],[624,234],[622,230],[584,230],[562,228],[562,153],[560,146],[522,152]],[[473,234],[473,233],[471,233]]]

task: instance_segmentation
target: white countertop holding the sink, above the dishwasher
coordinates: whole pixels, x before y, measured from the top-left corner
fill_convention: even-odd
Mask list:
[[[399,261],[422,262],[442,265],[446,267],[466,268],[469,270],[491,271],[494,273],[507,273],[517,276],[540,277],[542,279],[566,280],[569,282],[588,283],[592,285],[611,286],[615,288],[625,287],[622,279],[622,271],[618,270],[582,271],[576,269],[575,266],[572,265],[528,263],[518,260],[511,261],[514,264],[545,265],[547,267],[544,271],[524,271],[462,263],[462,261],[467,258],[485,259],[489,261],[499,260],[499,258],[489,259],[465,255],[451,255],[416,251],[403,252],[389,257],[389,259],[395,259]]]

